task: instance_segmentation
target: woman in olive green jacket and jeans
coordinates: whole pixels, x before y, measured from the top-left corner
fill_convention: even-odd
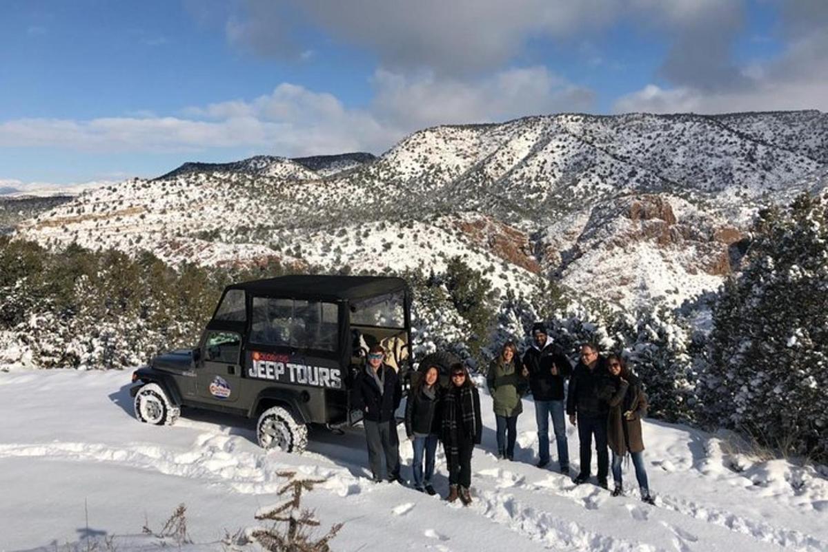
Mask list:
[[[500,355],[489,364],[486,378],[498,426],[498,458],[501,459],[514,459],[517,415],[523,412],[521,397],[526,389],[526,378],[519,364],[517,347],[513,341],[508,341]]]

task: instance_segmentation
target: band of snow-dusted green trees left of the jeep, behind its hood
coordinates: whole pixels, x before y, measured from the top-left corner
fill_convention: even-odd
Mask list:
[[[2,359],[42,368],[141,364],[159,350],[194,345],[227,283],[280,273],[277,265],[174,269],[146,252],[130,257],[70,245],[52,253],[2,239]]]

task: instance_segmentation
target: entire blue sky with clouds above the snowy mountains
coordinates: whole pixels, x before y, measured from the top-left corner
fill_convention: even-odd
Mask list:
[[[0,3],[0,188],[442,123],[828,108],[824,0]]]

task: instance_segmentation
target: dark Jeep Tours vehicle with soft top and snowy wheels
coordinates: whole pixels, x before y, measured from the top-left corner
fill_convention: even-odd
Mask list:
[[[360,421],[350,388],[369,347],[383,345],[386,363],[409,379],[411,301],[401,278],[234,283],[195,348],[157,355],[132,374],[135,416],[156,425],[187,408],[243,416],[258,420],[263,448],[301,451],[310,424],[338,430]]]

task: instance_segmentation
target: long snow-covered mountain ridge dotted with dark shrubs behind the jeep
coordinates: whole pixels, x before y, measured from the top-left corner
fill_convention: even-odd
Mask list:
[[[458,253],[502,292],[513,274],[557,274],[625,307],[675,306],[738,267],[759,207],[824,187],[826,143],[821,112],[438,126],[377,159],[184,164],[84,193],[18,235],[328,271],[440,269]]]

